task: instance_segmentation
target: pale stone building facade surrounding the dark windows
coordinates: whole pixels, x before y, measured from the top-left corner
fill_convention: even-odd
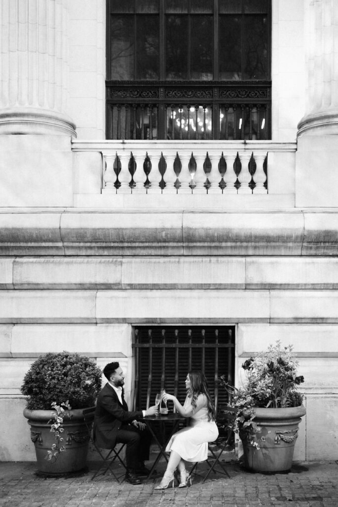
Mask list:
[[[34,358],[120,360],[131,399],[140,325],[234,326],[235,385],[252,352],[292,343],[295,459],[337,459],[338,4],[272,0],[271,140],[106,140],[105,16],[104,0],[1,4],[0,459],[33,459],[20,385]],[[139,167],[164,157],[163,192],[152,170],[131,193],[131,152]]]

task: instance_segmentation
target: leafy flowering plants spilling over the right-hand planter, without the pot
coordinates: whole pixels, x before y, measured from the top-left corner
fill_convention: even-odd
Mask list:
[[[297,385],[304,382],[297,376],[298,363],[292,355],[292,345],[281,347],[279,340],[268,350],[258,352],[247,359],[242,368],[246,373],[244,387],[239,389],[228,384],[224,376],[220,385],[232,395],[232,406],[236,408],[234,430],[237,433],[253,433],[255,408],[285,408],[302,405],[303,396]]]

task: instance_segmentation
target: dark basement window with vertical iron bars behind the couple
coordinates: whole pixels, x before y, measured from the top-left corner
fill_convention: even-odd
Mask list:
[[[183,403],[185,377],[193,370],[205,373],[217,412],[231,402],[228,393],[219,386],[219,377],[225,375],[231,385],[234,383],[234,326],[141,326],[133,330],[132,347],[137,410],[155,405],[161,389]],[[168,408],[172,410],[172,406]]]

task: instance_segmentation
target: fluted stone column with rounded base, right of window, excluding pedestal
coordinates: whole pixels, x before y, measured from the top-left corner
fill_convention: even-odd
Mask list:
[[[304,133],[338,134],[338,2],[305,0],[307,68]]]

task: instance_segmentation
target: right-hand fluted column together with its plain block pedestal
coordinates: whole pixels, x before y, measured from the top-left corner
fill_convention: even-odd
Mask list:
[[[295,204],[336,207],[338,199],[338,2],[305,0],[306,114],[298,124]]]

